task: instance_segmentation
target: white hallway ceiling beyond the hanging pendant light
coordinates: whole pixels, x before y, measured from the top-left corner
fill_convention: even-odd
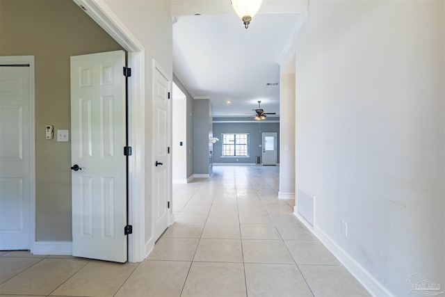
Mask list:
[[[264,112],[279,116],[280,86],[267,83],[280,82],[278,61],[300,17],[259,14],[245,29],[235,12],[178,16],[173,24],[175,75],[195,99],[210,99],[215,118],[249,116],[259,100]]]

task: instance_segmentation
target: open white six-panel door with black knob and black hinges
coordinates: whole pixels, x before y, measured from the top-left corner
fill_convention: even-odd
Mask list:
[[[72,253],[77,257],[127,261],[124,63],[124,51],[71,57]]]

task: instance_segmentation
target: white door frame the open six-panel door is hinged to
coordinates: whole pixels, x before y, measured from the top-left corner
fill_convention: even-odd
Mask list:
[[[133,148],[129,158],[129,234],[128,261],[142,262],[145,259],[145,48],[102,0],[73,0],[99,26],[118,42],[128,53],[127,67],[131,68],[129,79],[129,145]]]

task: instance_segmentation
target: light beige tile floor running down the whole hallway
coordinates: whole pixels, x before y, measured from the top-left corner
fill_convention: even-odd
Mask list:
[[[173,186],[176,223],[142,263],[0,251],[0,296],[369,296],[278,200],[279,168]]]

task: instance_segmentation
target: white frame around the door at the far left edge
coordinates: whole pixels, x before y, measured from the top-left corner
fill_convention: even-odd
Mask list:
[[[35,246],[35,72],[34,72],[34,56],[0,56],[1,64],[29,64],[29,123],[30,129],[30,186],[29,193],[31,195],[29,202],[31,203],[29,207],[31,221],[29,227],[31,228],[29,234],[29,247],[31,252],[33,252]]]

